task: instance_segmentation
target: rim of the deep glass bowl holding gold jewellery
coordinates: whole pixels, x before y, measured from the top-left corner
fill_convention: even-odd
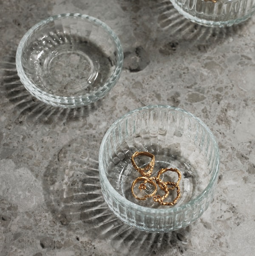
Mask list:
[[[177,204],[177,205],[175,205],[175,207],[164,208],[164,209],[144,207],[144,206],[141,206],[139,204],[135,204],[135,203],[127,200],[126,198],[124,198],[122,195],[120,195],[113,188],[113,186],[111,185],[110,181],[107,178],[107,175],[106,175],[106,172],[105,172],[105,169],[104,169],[104,165],[103,165],[103,155],[104,155],[104,147],[105,147],[105,144],[107,142],[107,139],[108,139],[109,135],[111,134],[113,129],[116,127],[116,125],[120,121],[124,120],[125,118],[127,118],[129,115],[132,115],[133,113],[140,112],[140,111],[146,110],[146,109],[170,109],[170,110],[182,112],[182,113],[188,115],[190,118],[195,119],[195,121],[197,121],[199,124],[201,124],[204,127],[204,129],[208,132],[208,134],[210,134],[210,137],[212,139],[212,144],[214,145],[214,148],[215,148],[216,163],[215,163],[215,169],[213,170],[214,173],[212,173],[212,177],[210,178],[210,181],[207,184],[207,186],[205,187],[205,189],[198,196],[196,196],[192,200],[188,201],[187,203],[181,204],[179,206]],[[219,172],[219,163],[220,163],[220,155],[219,155],[219,150],[218,150],[218,144],[216,142],[215,136],[212,134],[211,130],[207,127],[207,125],[204,124],[204,122],[201,121],[200,118],[196,117],[195,115],[188,112],[187,110],[184,110],[184,109],[181,109],[181,108],[178,108],[178,107],[175,107],[175,106],[167,106],[167,105],[143,106],[143,107],[140,107],[138,109],[134,109],[134,110],[131,110],[131,111],[127,112],[125,115],[118,118],[109,127],[109,129],[107,130],[107,132],[105,133],[105,135],[102,139],[102,143],[101,143],[100,149],[99,149],[99,176],[100,176],[100,182],[102,182],[105,185],[106,189],[109,190],[109,194],[113,195],[113,198],[116,198],[119,202],[122,202],[122,204],[124,204],[127,208],[136,209],[136,210],[139,210],[141,212],[144,212],[146,214],[151,214],[151,215],[156,215],[156,214],[165,215],[165,214],[170,214],[170,213],[183,212],[187,208],[189,208],[192,205],[195,205],[197,202],[201,201],[202,198],[206,197],[207,194],[210,193],[210,191],[214,188],[214,184],[217,182],[218,172]]]

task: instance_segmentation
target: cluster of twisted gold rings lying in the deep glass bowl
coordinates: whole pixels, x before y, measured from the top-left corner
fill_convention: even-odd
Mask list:
[[[140,168],[137,166],[137,164],[134,161],[134,158],[140,156],[140,155],[145,155],[151,158],[151,161],[149,164],[147,164],[146,167],[144,168]],[[158,174],[156,175],[156,177],[151,177],[151,174],[153,172],[153,168],[155,165],[155,156],[153,154],[151,154],[150,152],[134,152],[134,154],[131,157],[131,163],[133,165],[133,167],[142,175],[141,177],[136,178],[131,186],[131,191],[132,191],[132,195],[134,198],[138,199],[138,200],[146,200],[149,197],[153,197],[154,202],[158,202],[161,205],[170,205],[173,206],[174,204],[176,204],[176,202],[178,201],[178,199],[181,197],[181,191],[180,191],[180,187],[179,187],[179,182],[181,180],[181,172],[178,169],[173,169],[173,168],[162,168],[161,170],[159,170]],[[175,172],[178,174],[178,181],[177,182],[173,182],[173,181],[163,181],[160,176],[163,173],[166,172]],[[136,183],[141,182],[142,183],[139,185],[139,190],[146,190],[146,184],[149,183],[154,187],[154,190],[152,193],[145,195],[144,197],[139,197],[136,196],[136,194],[134,193],[134,187],[136,185]],[[158,186],[161,190],[164,191],[164,196],[160,196],[160,195],[156,195],[157,190],[158,190]],[[176,188],[177,191],[177,196],[176,198],[174,198],[173,201],[171,202],[165,202],[164,199],[167,198],[169,196],[170,190],[174,190]]]

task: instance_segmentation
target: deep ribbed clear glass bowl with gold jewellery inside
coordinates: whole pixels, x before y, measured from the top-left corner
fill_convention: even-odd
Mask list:
[[[131,184],[141,176],[131,164],[136,151],[155,155],[153,175],[161,168],[181,172],[181,198],[174,206],[133,197]],[[141,159],[144,166],[150,160]],[[145,106],[119,118],[106,132],[99,151],[100,184],[108,206],[125,223],[149,232],[178,230],[198,219],[212,201],[218,168],[212,132],[191,113],[171,106]],[[170,177],[174,174],[162,178],[176,182],[176,176]],[[176,191],[171,193],[172,200]]]

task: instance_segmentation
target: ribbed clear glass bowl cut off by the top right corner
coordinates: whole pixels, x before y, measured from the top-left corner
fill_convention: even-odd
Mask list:
[[[255,0],[170,0],[184,17],[212,27],[232,26],[255,12]]]

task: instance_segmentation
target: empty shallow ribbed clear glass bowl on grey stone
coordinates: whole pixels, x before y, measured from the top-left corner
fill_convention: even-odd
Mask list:
[[[59,14],[34,25],[21,39],[17,72],[40,101],[73,108],[104,97],[122,71],[119,38],[85,14]]]

